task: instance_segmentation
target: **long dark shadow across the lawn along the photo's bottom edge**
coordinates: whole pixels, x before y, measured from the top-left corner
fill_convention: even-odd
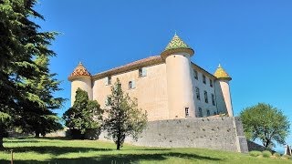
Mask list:
[[[78,158],[78,159],[51,159],[48,161],[36,161],[36,160],[16,160],[16,163],[139,163],[141,160],[162,161],[168,158],[180,158],[180,159],[198,159],[204,161],[219,161],[222,159],[216,159],[211,157],[204,157],[195,154],[183,154],[177,152],[157,153],[157,154],[117,154],[117,155],[101,155],[90,158]],[[8,162],[7,160],[0,160],[1,162]]]

